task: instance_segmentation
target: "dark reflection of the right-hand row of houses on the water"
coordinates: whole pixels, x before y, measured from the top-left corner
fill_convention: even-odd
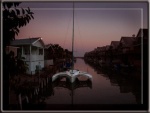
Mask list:
[[[85,61],[86,62],[86,61]],[[97,74],[101,74],[110,80],[112,86],[119,86],[120,93],[132,93],[137,104],[141,104],[141,73],[132,69],[122,69],[121,71],[112,70],[110,67],[99,67],[89,64]]]

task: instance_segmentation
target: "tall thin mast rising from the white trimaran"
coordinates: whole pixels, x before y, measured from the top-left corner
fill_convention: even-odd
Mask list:
[[[74,1],[73,1],[73,29],[72,29],[72,71],[73,71],[73,68],[74,68]]]

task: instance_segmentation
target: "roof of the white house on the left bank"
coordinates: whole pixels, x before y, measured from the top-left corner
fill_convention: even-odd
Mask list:
[[[16,39],[16,40],[13,40],[10,45],[12,45],[12,46],[34,45],[34,43],[36,43],[37,41],[41,41],[42,45],[44,46],[44,42],[41,40],[40,37],[25,38],[25,39]]]

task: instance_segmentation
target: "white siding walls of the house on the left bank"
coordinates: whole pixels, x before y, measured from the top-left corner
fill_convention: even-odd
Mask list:
[[[36,66],[39,64],[41,68],[44,68],[44,45],[41,40],[37,39],[32,44],[18,45],[18,47],[21,49],[21,56],[25,58],[25,62],[28,64],[28,74],[35,74]]]

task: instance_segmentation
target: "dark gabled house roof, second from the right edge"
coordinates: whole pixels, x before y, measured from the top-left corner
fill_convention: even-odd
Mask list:
[[[134,41],[134,37],[121,37],[120,39],[120,43],[122,43],[123,47],[131,47]]]

